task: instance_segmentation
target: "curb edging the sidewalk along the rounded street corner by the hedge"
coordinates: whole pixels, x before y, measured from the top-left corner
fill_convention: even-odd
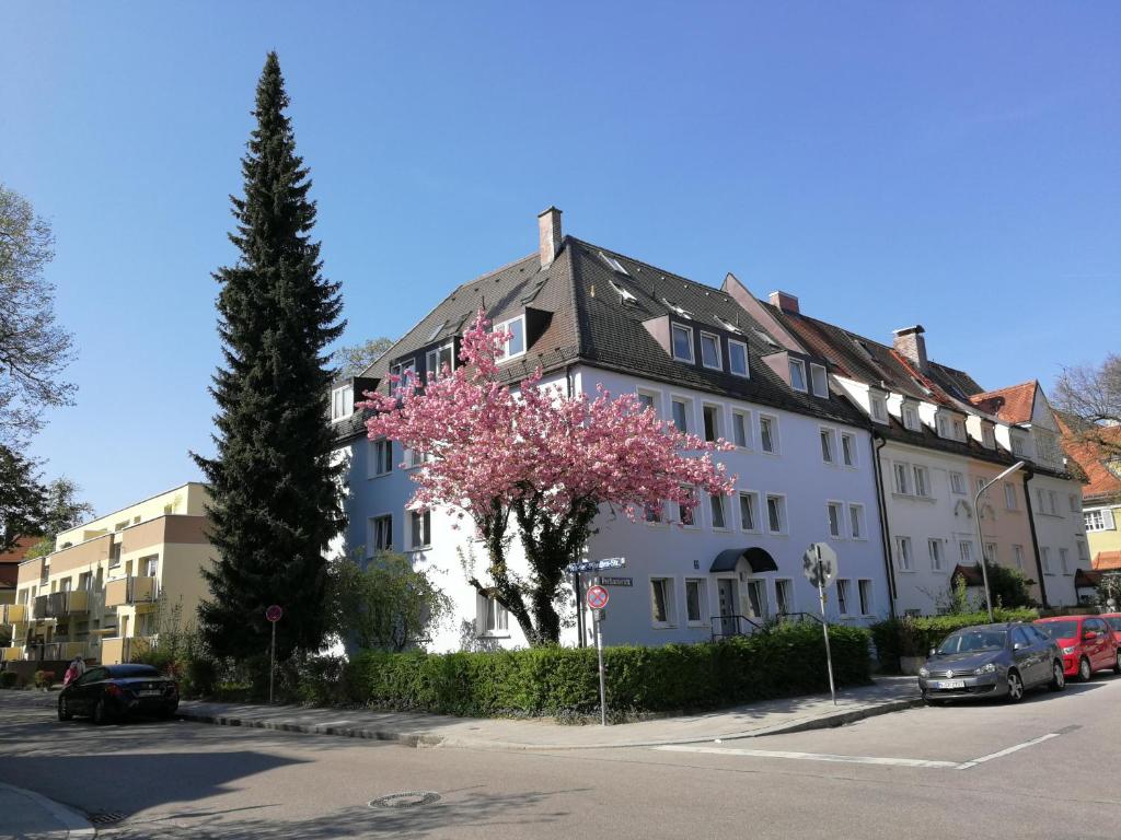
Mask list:
[[[390,729],[362,729],[339,726],[317,726],[315,724],[291,724],[282,720],[263,720],[258,718],[239,718],[225,715],[203,715],[189,711],[178,712],[178,717],[197,724],[213,724],[215,726],[240,726],[247,729],[271,729],[280,732],[300,732],[304,735],[334,735],[343,738],[362,738],[365,740],[395,741],[408,747],[456,747],[466,749],[494,749],[502,752],[558,752],[577,749],[622,749],[637,747],[663,747],[677,744],[707,744],[712,741],[742,740],[744,738],[761,738],[768,735],[786,735],[788,732],[804,732],[812,729],[832,729],[846,724],[853,724],[865,718],[890,715],[896,711],[921,706],[921,698],[906,698],[904,700],[891,700],[876,706],[867,706],[859,709],[849,709],[831,715],[822,715],[813,718],[803,718],[785,724],[777,724],[771,727],[761,727],[748,731],[732,732],[731,735],[691,737],[691,738],[663,738],[659,740],[637,740],[613,744],[525,744],[521,741],[489,740],[485,738],[463,738],[457,736],[432,735],[430,732],[401,732]]]

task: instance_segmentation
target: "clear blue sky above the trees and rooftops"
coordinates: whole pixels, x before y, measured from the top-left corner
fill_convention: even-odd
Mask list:
[[[536,214],[986,388],[1118,351],[1121,7],[7,2],[0,180],[81,357],[34,451],[108,512],[197,477],[210,272],[275,48],[348,343],[536,250]]]

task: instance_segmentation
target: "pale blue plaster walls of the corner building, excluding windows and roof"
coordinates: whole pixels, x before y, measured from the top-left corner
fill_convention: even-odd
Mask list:
[[[609,373],[587,366],[569,372],[575,391],[594,395],[597,384],[612,393],[641,391],[655,398],[655,405],[663,417],[670,417],[673,399],[683,399],[689,408],[689,430],[703,432],[702,408],[719,409],[721,436],[732,439],[732,412],[740,411],[749,419],[748,447],[733,452],[719,454],[728,464],[729,473],[738,474],[738,491],[758,494],[756,529],[742,528],[739,496],[724,498],[725,528],[714,526],[708,500],[695,512],[696,525],[679,528],[676,523],[630,522],[622,512],[604,510],[595,522],[595,533],[587,547],[587,557],[626,557],[627,568],[612,572],[612,577],[630,579],[631,586],[611,585],[611,603],[602,628],[608,644],[664,644],[694,642],[712,637],[713,616],[720,614],[720,591],[731,598],[735,613],[747,614],[752,604],[747,587],[758,581],[765,604],[760,612],[772,616],[778,612],[776,581],[789,581],[793,612],[817,613],[817,596],[802,573],[802,556],[817,541],[831,543],[839,554],[841,579],[847,584],[847,605],[844,615],[837,604],[836,587],[831,589],[828,614],[832,620],[865,624],[886,616],[889,612],[888,586],[881,542],[876,483],[872,472],[872,451],[867,431],[818,421],[815,418],[766,407],[722,399],[713,394],[678,389],[643,381],[632,376]],[[566,389],[565,375],[545,380],[558,389]],[[776,423],[778,454],[761,451],[760,414]],[[823,461],[819,433],[822,429],[834,435],[834,464]],[[842,464],[841,432],[851,436],[851,451],[855,464]],[[450,511],[432,512],[432,543],[427,548],[410,545],[406,504],[414,485],[409,470],[400,463],[404,454],[393,447],[393,469],[379,474],[376,468],[376,445],[360,440],[348,447],[350,468],[346,510],[350,524],[345,551],[359,560],[372,556],[373,520],[392,517],[392,548],[406,551],[418,567],[433,571],[436,582],[453,599],[455,615],[428,644],[429,650],[453,651],[481,647],[525,646],[526,640],[512,618],[504,631],[484,632],[485,603],[467,582],[464,561],[474,560],[474,573],[484,585],[487,558],[482,543],[473,538],[470,520],[457,520]],[[785,504],[782,533],[768,532],[767,496],[779,496]],[[831,536],[827,504],[840,504],[841,535]],[[855,507],[854,507],[855,506]],[[668,506],[667,506],[668,507]],[[859,510],[860,538],[852,538],[851,512]],[[676,511],[666,511],[667,519],[676,520]],[[458,529],[456,529],[458,525]],[[511,525],[511,533],[517,530]],[[710,568],[716,554],[725,549],[759,547],[776,560],[779,571],[752,575],[745,564],[741,568],[712,575]],[[525,569],[521,547],[517,536],[510,548],[510,562],[515,569]],[[651,601],[651,579],[668,581],[667,620],[655,620]],[[700,581],[701,610],[698,619],[687,615],[686,581]],[[720,582],[723,580],[724,582]],[[864,608],[861,608],[861,584],[864,586]],[[585,580],[591,582],[590,580]],[[563,632],[566,644],[577,642],[575,627],[575,598],[568,600],[563,615],[568,626]],[[766,616],[757,616],[763,618]],[[719,622],[717,622],[719,625]],[[591,623],[586,624],[591,640]]]

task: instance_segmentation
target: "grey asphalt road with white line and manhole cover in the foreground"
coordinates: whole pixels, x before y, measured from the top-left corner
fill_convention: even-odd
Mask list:
[[[99,830],[121,840],[1121,837],[1121,678],[1110,674],[1016,707],[550,754],[182,721],[95,728],[57,722],[44,699],[0,692],[0,781],[121,814]],[[405,792],[438,799],[368,804]]]

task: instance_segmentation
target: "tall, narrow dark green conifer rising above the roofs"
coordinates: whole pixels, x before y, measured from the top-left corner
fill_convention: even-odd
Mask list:
[[[244,197],[231,197],[240,258],[214,274],[224,365],[213,459],[195,455],[210,480],[212,597],[200,628],[219,655],[268,651],[265,609],[284,607],[277,657],[313,651],[328,626],[324,553],[344,520],[332,466],[326,346],[345,326],[339,286],[321,272],[311,239],[312,181],[296,155],[288,95],[276,53],[257,85],[257,128],[242,158]]]

